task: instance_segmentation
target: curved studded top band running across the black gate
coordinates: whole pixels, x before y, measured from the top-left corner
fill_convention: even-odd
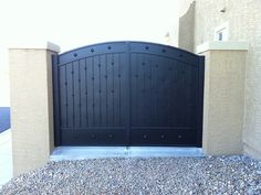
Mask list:
[[[148,42],[122,41],[92,44],[64,52],[59,55],[59,64],[63,65],[84,57],[113,53],[143,53],[158,55],[181,61],[188,64],[195,64],[199,57],[191,52],[169,45]]]

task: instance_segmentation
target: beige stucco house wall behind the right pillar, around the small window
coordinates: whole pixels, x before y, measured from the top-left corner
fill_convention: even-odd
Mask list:
[[[226,9],[226,12],[220,10]],[[261,158],[261,1],[196,0],[194,47],[213,41],[213,29],[229,22],[229,41],[248,41],[243,142]]]

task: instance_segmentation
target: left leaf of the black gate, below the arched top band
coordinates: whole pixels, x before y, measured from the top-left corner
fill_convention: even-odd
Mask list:
[[[126,144],[125,62],[108,53],[59,64],[60,144]]]

